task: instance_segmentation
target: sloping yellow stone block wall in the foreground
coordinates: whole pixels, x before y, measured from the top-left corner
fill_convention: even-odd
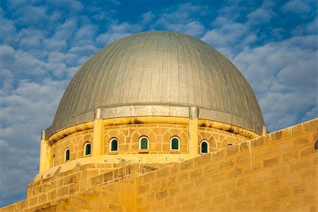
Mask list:
[[[317,211],[317,128],[314,119],[182,163],[98,184],[40,204],[37,210]],[[96,177],[105,180],[105,174]],[[26,211],[28,201],[0,211]]]

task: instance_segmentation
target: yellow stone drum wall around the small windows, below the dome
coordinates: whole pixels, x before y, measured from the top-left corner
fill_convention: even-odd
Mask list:
[[[185,124],[122,124],[105,127],[105,143],[103,153],[110,152],[110,140],[116,138],[119,141],[116,154],[139,153],[139,138],[147,136],[149,139],[148,153],[188,153],[188,126]],[[170,139],[177,136],[180,140],[180,150],[170,151]],[[228,143],[235,144],[248,139],[228,131],[199,126],[198,153],[200,143],[206,140],[209,143],[209,152],[225,148]],[[52,145],[52,156],[55,156],[55,166],[66,163],[66,148],[70,150],[70,160],[90,157],[84,155],[84,144],[90,142],[93,146],[93,129],[76,132],[60,139]],[[53,161],[53,160],[52,160]],[[51,165],[51,167],[53,164]]]

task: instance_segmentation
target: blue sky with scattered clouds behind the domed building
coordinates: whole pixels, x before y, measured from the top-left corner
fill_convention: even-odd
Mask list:
[[[98,49],[148,30],[204,40],[237,66],[269,131],[317,117],[317,1],[1,0],[0,207],[26,198],[40,131]]]

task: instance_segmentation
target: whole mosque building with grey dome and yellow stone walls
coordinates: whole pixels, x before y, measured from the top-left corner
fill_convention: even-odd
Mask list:
[[[269,133],[216,49],[130,35],[73,76],[27,199],[0,211],[317,211],[317,126]]]

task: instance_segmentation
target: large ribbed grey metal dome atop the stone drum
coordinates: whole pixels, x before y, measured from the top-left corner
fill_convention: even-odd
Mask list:
[[[264,126],[249,83],[216,49],[182,33],[139,33],[86,61],[66,88],[46,134],[92,121],[97,108],[112,118],[147,111],[165,115],[168,110],[167,115],[182,117],[189,115],[189,107],[198,108],[199,119],[258,134]]]

